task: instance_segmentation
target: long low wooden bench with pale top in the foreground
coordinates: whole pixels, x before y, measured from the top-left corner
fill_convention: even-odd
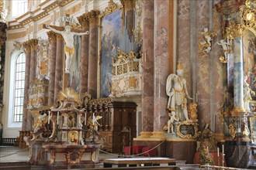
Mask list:
[[[103,161],[104,168],[112,168],[112,165],[117,165],[118,167],[130,167],[137,166],[159,166],[161,164],[165,165],[176,165],[174,158],[106,158]]]

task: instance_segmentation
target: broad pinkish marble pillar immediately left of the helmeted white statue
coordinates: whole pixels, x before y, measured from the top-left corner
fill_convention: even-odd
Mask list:
[[[168,122],[166,80],[169,74],[169,1],[154,2],[154,132],[164,137],[163,127]],[[156,135],[157,134],[157,135]],[[152,138],[152,137],[151,137]]]

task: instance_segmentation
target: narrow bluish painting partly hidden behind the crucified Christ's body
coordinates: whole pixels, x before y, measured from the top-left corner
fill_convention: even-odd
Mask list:
[[[79,91],[79,63],[80,63],[80,57],[81,57],[81,37],[80,36],[74,36],[74,56],[72,57],[71,62],[71,68],[70,73],[68,76],[68,87],[71,87],[72,89]]]

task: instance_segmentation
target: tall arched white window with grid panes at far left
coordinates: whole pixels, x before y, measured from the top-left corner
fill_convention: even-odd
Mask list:
[[[24,85],[25,85],[25,53],[20,53],[16,58],[16,70],[14,79],[14,97],[13,97],[13,122],[22,122]]]

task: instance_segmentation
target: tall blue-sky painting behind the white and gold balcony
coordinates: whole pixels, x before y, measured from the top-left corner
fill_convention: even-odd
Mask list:
[[[122,39],[122,11],[102,17],[100,97],[109,97],[112,76],[112,56]]]

